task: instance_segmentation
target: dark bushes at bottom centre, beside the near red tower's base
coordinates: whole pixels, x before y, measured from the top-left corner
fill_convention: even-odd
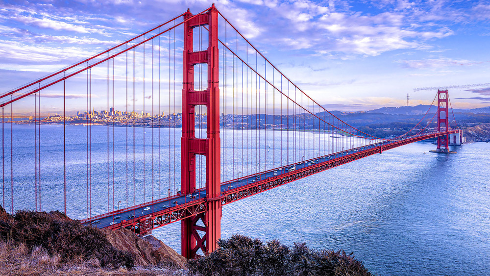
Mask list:
[[[218,242],[219,249],[190,260],[193,273],[219,276],[370,276],[353,253],[310,250],[304,243],[293,248],[279,241],[264,244],[242,235]]]

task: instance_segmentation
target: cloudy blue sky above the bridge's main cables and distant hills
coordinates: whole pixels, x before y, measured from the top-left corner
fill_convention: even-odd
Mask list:
[[[2,0],[3,92],[210,1]],[[490,106],[490,1],[215,0],[305,93],[329,110]],[[73,94],[74,95],[74,94]],[[73,96],[76,98],[75,96]]]

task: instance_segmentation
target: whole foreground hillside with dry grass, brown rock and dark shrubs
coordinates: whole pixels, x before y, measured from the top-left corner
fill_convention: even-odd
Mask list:
[[[83,226],[58,211],[20,210],[12,216],[0,206],[0,275],[371,275],[352,253],[264,244],[241,235],[220,240],[217,251],[189,261],[168,247],[151,250],[147,245],[128,230]],[[153,263],[141,265],[142,255]]]

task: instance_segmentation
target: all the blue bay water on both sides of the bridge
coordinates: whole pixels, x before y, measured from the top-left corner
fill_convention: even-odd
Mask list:
[[[5,197],[4,205],[10,211],[10,125],[3,127],[2,179],[5,183],[0,200]],[[34,127],[12,127],[14,210],[34,209],[34,155],[37,151]],[[152,197],[165,197],[169,190],[173,193],[175,186],[179,186],[180,180],[175,177],[180,174],[179,129],[174,136],[173,129],[168,128],[128,128],[126,162],[125,127],[67,126],[69,216],[80,219],[87,216],[87,129],[92,133],[92,215],[117,208],[118,201],[125,207]],[[112,144],[112,131],[114,151],[112,145],[107,151],[107,141]],[[153,141],[150,140],[152,131]],[[243,170],[238,161],[243,159],[244,153],[233,150],[232,145],[243,144],[240,139],[248,137],[244,133],[222,130],[222,140],[227,141],[222,149],[222,158],[227,160],[222,162],[227,164],[222,169],[223,179],[237,177],[238,171]],[[270,147],[278,145],[274,140],[280,137],[277,131],[269,131],[267,140],[265,132],[255,132],[255,138],[252,132],[248,134],[250,137],[245,141],[249,141],[250,147],[258,145],[264,158]],[[293,140],[297,134],[282,135],[291,135]],[[64,207],[62,139],[61,125],[41,127],[43,210],[63,210]],[[151,152],[148,148],[151,143],[160,143],[161,149]],[[329,147],[326,151],[330,151],[337,142],[330,139],[326,143]],[[354,141],[356,143],[362,141]],[[490,275],[490,144],[471,143],[452,149],[458,151],[457,154],[430,153],[434,148],[429,142],[418,142],[383,151],[225,205],[221,237],[243,234],[264,242],[278,239],[286,245],[305,242],[318,250],[343,249],[354,252],[356,258],[377,275]],[[288,154],[294,159],[315,153],[296,154],[287,147],[283,150],[282,158],[275,156],[276,166],[286,160]],[[247,162],[260,159],[253,154]],[[275,164],[270,161],[271,156],[269,152],[268,166]],[[173,159],[177,167],[168,162]],[[197,162],[202,164],[203,160]],[[264,164],[254,165],[260,170]],[[250,170],[248,174],[253,173],[254,168]],[[198,185],[203,185],[202,177],[197,177]],[[180,223],[155,229],[153,235],[180,252]]]

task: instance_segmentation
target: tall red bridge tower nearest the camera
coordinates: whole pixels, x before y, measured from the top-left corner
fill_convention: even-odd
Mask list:
[[[188,20],[189,19],[189,20]],[[201,249],[209,253],[217,249],[221,237],[221,153],[220,91],[218,74],[218,10],[213,6],[197,16],[187,10],[184,15],[184,52],[182,88],[182,194],[196,190],[196,154],[206,157],[206,212],[182,220],[182,256],[194,258]],[[193,50],[193,29],[208,26],[207,50]],[[207,88],[194,90],[194,66],[207,64]],[[194,110],[205,105],[206,138],[195,136]],[[198,225],[198,222],[201,224]]]

